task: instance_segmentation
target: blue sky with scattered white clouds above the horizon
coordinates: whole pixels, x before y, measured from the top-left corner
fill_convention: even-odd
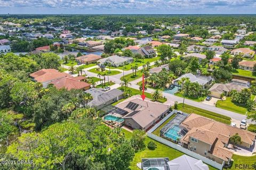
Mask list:
[[[255,14],[256,0],[0,0],[0,14]]]

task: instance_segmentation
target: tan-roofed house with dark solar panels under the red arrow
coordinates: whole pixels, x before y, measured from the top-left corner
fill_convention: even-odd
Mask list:
[[[123,117],[126,126],[141,130],[147,130],[170,111],[170,106],[147,98],[142,100],[140,95],[132,96],[115,107],[127,112]]]

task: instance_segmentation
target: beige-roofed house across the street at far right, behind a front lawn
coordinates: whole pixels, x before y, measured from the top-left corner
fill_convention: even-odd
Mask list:
[[[250,82],[244,81],[244,80],[238,80],[233,79],[230,83],[215,83],[213,86],[209,89],[211,92],[210,96],[215,98],[221,98],[221,95],[224,94],[225,96],[228,96],[230,94],[230,91],[236,90],[236,91],[242,91],[243,89],[250,88]]]

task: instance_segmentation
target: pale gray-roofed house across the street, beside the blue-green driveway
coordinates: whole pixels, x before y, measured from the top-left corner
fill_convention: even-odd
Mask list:
[[[209,86],[213,81],[213,78],[210,76],[207,77],[202,75],[194,75],[192,73],[186,73],[173,81],[176,86],[180,86],[179,81],[181,80],[181,78],[188,78],[190,82],[197,82],[201,86]]]

